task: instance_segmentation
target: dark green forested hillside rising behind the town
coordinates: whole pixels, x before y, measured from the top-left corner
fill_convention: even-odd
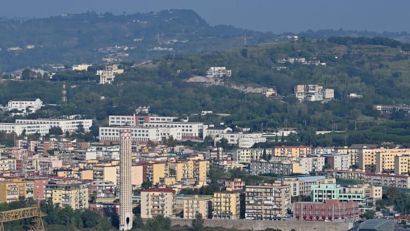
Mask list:
[[[409,53],[403,50],[406,44],[389,45],[395,44],[389,39],[383,41],[385,45],[375,45],[374,40],[360,44],[334,41],[300,39],[199,55],[168,55],[141,66],[123,62],[121,67],[126,71],[116,77],[113,85],[98,85],[96,79],[82,78],[93,73],[65,74],[68,104],[60,106],[60,110],[49,107],[30,117],[84,114],[104,123],[109,114],[131,114],[138,106],[151,106],[153,113],[180,117],[213,110],[231,116],[191,116],[190,120],[249,126],[253,131],[298,127],[299,136],[290,139],[314,145],[408,143],[407,114],[379,114],[374,109],[375,104],[407,103],[410,98]],[[283,58],[291,57],[320,60],[326,65],[282,63]],[[214,65],[232,70],[232,77],[224,78],[225,85],[186,82],[192,76],[203,76]],[[285,68],[278,71],[279,66]],[[0,102],[39,97],[46,103],[61,103],[62,84],[53,80],[4,80]],[[229,84],[272,87],[283,98],[243,93]],[[293,93],[296,84],[334,88],[335,100],[299,103]],[[350,93],[363,98],[350,99]],[[332,129],[345,132],[314,135],[317,130]]]

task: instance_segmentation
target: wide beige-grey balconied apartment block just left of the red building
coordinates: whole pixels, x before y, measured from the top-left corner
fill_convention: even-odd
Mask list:
[[[285,218],[291,206],[291,186],[263,184],[245,186],[245,219]]]

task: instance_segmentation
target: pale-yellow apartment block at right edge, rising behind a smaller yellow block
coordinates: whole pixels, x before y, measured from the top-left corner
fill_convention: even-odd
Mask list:
[[[410,155],[410,149],[359,149],[358,166],[366,172],[394,172],[394,157]]]

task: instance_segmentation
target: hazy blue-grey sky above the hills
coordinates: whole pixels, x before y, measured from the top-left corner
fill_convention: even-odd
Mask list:
[[[395,0],[0,0],[0,17],[192,9],[212,26],[274,33],[309,29],[410,32],[410,1]]]

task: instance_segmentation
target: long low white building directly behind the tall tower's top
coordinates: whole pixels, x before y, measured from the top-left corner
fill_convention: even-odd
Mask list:
[[[130,129],[133,142],[159,142],[162,137],[172,136],[175,140],[181,140],[181,128],[178,127],[100,127],[100,141],[119,141],[119,130]]]

